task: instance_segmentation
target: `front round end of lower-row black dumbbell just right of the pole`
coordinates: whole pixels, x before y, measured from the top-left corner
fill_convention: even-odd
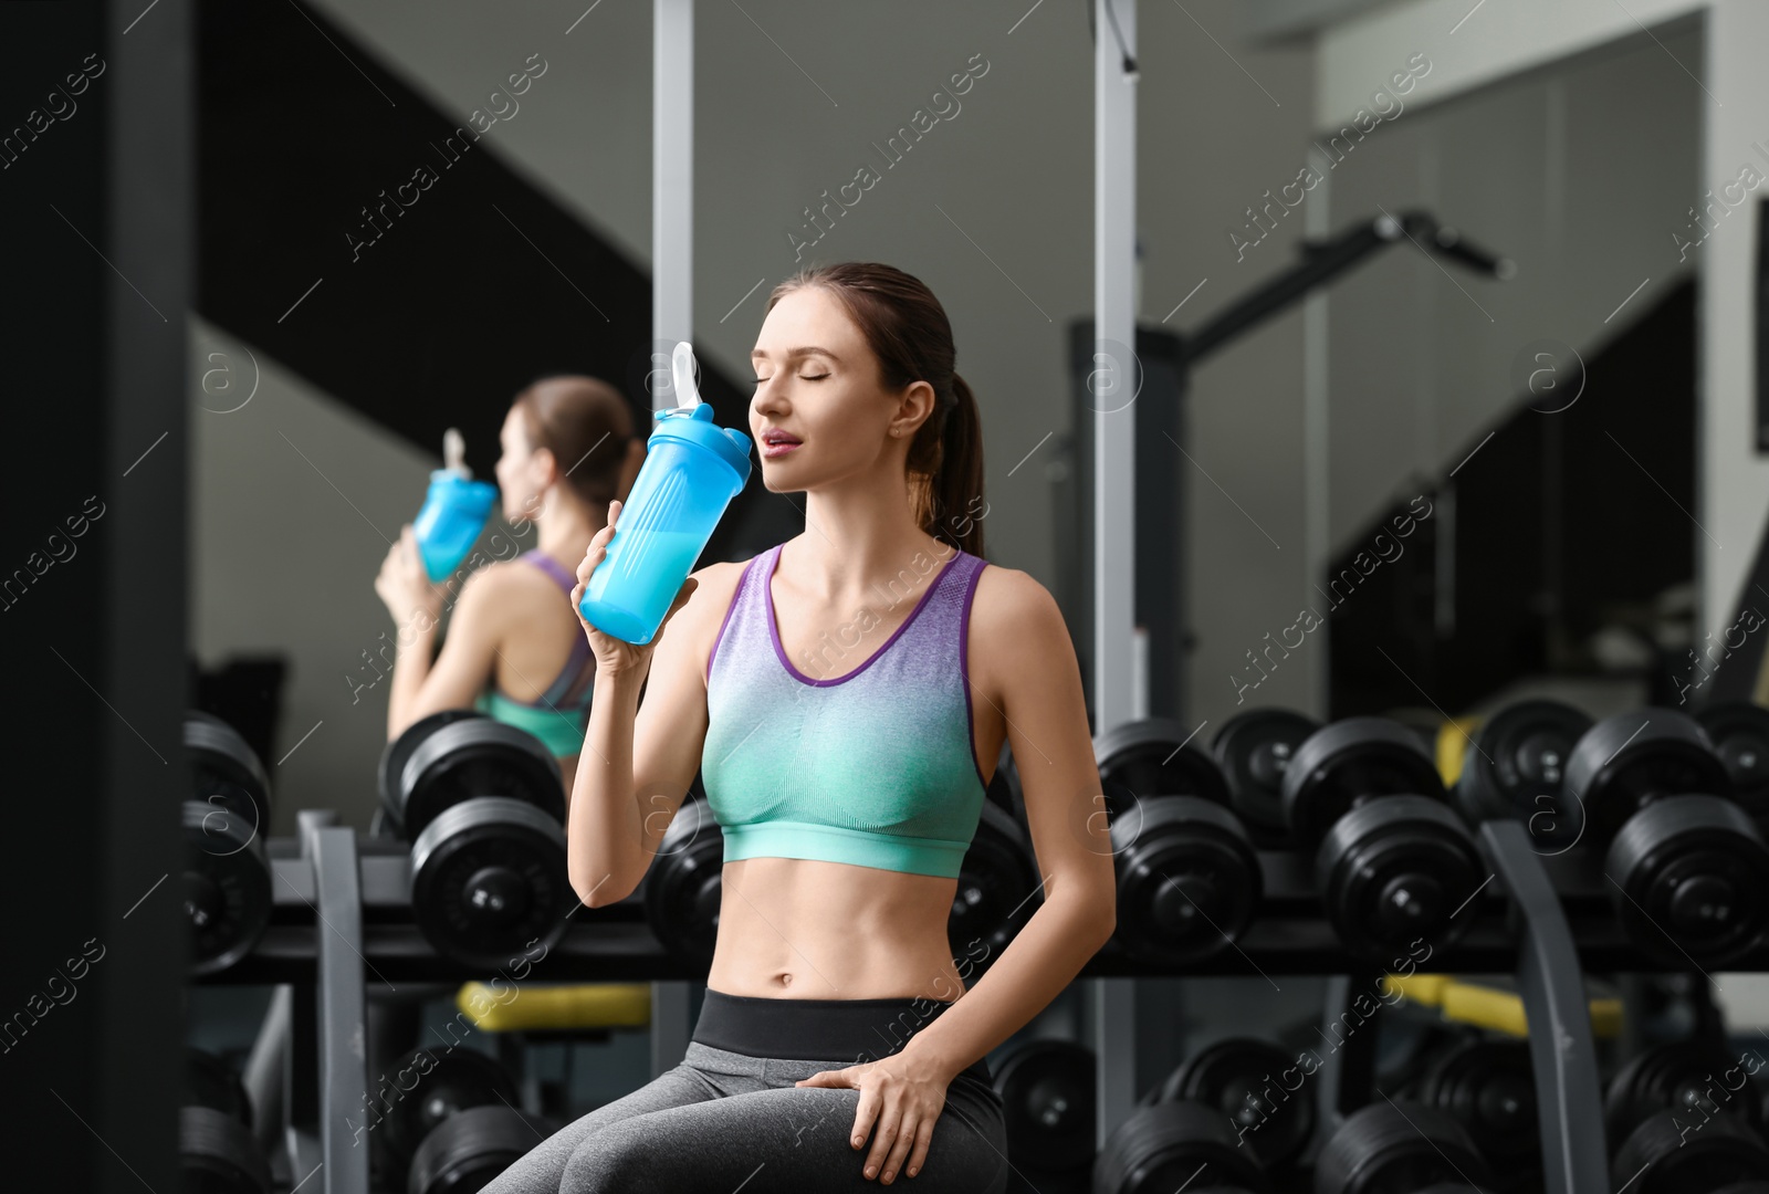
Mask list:
[[[1093,1194],[1171,1194],[1176,1189],[1265,1194],[1270,1178],[1233,1121],[1201,1102],[1137,1107],[1093,1162]]]

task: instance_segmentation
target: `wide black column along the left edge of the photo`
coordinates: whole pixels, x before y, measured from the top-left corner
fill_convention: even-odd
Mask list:
[[[0,1118],[69,1190],[179,1189],[189,42],[0,5]]]

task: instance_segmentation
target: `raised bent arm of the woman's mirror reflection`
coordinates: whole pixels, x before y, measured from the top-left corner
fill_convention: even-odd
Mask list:
[[[400,626],[387,695],[387,741],[432,713],[472,706],[485,688],[502,633],[497,619],[504,603],[492,594],[495,568],[486,564],[467,577],[449,617],[448,640],[432,663],[446,589],[425,575],[410,525],[387,552],[375,578],[375,593]]]

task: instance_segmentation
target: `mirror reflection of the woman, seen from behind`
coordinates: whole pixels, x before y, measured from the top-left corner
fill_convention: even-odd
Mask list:
[[[430,584],[405,525],[375,578],[400,626],[387,741],[430,713],[472,706],[540,738],[570,794],[596,667],[570,605],[571,566],[607,525],[609,502],[632,490],[646,444],[633,435],[630,403],[593,377],[547,377],[524,389],[499,444],[504,520],[532,522],[536,545],[467,577],[432,663],[449,586]]]

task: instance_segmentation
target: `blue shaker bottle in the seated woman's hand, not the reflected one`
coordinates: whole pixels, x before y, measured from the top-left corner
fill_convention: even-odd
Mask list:
[[[646,462],[578,603],[591,626],[633,644],[656,635],[713,527],[750,479],[750,437],[713,423],[693,386],[688,341],[676,345],[670,373],[683,405],[656,412]]]

